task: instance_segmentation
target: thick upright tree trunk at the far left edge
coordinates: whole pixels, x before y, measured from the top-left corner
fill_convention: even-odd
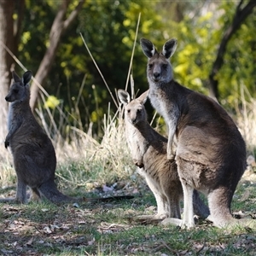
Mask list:
[[[8,117],[8,103],[4,98],[9,90],[11,80],[10,69],[14,62],[4,46],[6,45],[11,51],[14,51],[14,9],[15,1],[0,0],[0,137],[2,143],[7,135]]]

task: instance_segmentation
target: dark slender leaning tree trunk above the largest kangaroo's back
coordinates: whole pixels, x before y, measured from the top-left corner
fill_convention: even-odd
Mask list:
[[[216,74],[224,64],[224,54],[227,48],[227,44],[230,41],[230,38],[233,34],[240,28],[242,22],[253,12],[253,8],[256,6],[255,0],[250,0],[244,8],[241,8],[243,0],[238,3],[236,7],[236,13],[232,20],[231,25],[224,32],[224,36],[219,44],[218,53],[216,60],[212,65],[212,71],[209,74],[210,82],[210,96],[218,100],[218,80],[216,79]]]

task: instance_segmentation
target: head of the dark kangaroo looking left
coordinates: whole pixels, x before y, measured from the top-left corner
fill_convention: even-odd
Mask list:
[[[13,72],[14,83],[9,88],[9,93],[5,97],[7,102],[24,102],[29,101],[30,98],[30,90],[29,90],[29,82],[32,79],[32,72],[26,71],[23,74],[22,78]]]

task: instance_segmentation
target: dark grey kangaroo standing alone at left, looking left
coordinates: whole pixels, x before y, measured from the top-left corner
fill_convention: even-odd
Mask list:
[[[56,157],[55,148],[44,130],[38,125],[29,106],[29,82],[32,72],[27,71],[20,79],[13,72],[14,84],[5,97],[9,106],[8,135],[5,147],[10,147],[17,175],[17,191],[14,200],[26,203],[26,186],[32,190],[32,200],[44,195],[53,203],[77,201],[63,195],[55,185]]]

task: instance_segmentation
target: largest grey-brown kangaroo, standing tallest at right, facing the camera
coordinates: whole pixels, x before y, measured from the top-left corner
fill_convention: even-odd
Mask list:
[[[193,227],[193,189],[207,195],[210,219],[218,227],[235,223],[230,213],[232,196],[246,168],[246,145],[234,121],[217,102],[178,84],[170,57],[177,48],[172,38],[158,52],[142,38],[148,57],[147,77],[151,104],[168,126],[167,158],[174,158],[177,138],[177,172],[183,186],[182,226]]]

